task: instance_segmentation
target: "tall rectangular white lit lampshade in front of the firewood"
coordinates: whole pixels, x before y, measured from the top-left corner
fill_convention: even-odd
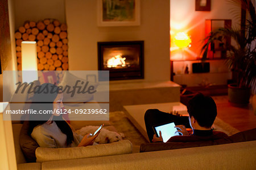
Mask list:
[[[32,82],[38,80],[38,61],[36,42],[22,42],[22,81]]]

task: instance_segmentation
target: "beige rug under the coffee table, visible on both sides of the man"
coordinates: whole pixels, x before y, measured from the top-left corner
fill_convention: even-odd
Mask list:
[[[110,112],[109,121],[118,132],[125,134],[124,139],[130,140],[133,146],[141,146],[142,143],[148,143],[123,111]],[[239,132],[236,128],[228,125],[228,123],[225,123],[219,118],[216,118],[214,121],[213,129],[225,132],[229,136]]]

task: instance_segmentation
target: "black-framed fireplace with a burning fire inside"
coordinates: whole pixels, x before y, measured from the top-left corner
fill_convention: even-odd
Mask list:
[[[109,80],[144,78],[144,42],[98,42],[98,70]]]

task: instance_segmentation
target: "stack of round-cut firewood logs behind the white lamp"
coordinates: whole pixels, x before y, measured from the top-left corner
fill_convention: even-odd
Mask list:
[[[39,71],[68,70],[67,24],[59,20],[28,21],[15,32],[18,70],[22,70],[21,42],[36,42]]]

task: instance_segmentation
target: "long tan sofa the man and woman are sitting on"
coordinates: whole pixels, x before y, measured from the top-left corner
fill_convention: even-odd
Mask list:
[[[79,121],[78,121],[79,122]],[[83,122],[71,124],[79,128]],[[91,124],[92,122],[90,122]],[[100,122],[101,123],[101,122]],[[27,163],[19,146],[20,123],[13,124],[18,169],[255,169],[256,140],[237,134],[240,142],[192,148],[160,148],[132,153],[129,140],[77,148],[37,148],[36,163]],[[254,130],[255,131],[255,130]],[[255,136],[255,135],[254,135]],[[246,141],[251,140],[251,141]],[[242,142],[246,141],[246,142]],[[156,145],[159,143],[156,143]],[[144,144],[150,146],[152,144]],[[154,145],[154,144],[153,144]],[[144,146],[141,146],[141,151]],[[154,146],[151,148],[154,148]]]

